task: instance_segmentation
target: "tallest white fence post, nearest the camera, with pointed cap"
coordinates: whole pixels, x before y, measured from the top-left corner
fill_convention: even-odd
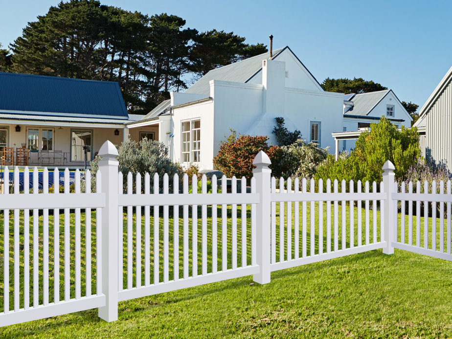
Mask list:
[[[106,304],[98,315],[105,321],[118,319],[118,151],[113,143],[105,141],[99,150],[99,170],[106,204],[102,208],[102,293]],[[97,258],[99,260],[99,258]]]

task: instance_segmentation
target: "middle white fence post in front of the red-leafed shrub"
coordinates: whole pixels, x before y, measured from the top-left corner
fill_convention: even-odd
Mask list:
[[[260,151],[254,158],[253,176],[256,179],[256,193],[259,203],[256,204],[256,263],[259,273],[253,275],[253,280],[259,284],[270,282],[270,158]]]

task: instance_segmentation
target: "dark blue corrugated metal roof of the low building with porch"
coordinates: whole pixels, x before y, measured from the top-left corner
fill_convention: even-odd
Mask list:
[[[0,110],[128,118],[116,82],[0,72]]]

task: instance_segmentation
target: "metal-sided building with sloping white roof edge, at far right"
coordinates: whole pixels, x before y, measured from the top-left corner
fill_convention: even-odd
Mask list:
[[[452,172],[452,67],[422,106],[414,126],[421,134],[422,155]]]

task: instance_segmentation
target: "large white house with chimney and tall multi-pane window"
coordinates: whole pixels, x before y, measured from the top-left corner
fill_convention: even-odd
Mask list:
[[[174,161],[212,169],[229,129],[268,136],[276,144],[271,132],[278,116],[289,130],[331,150],[331,134],[343,127],[343,94],[323,90],[288,46],[213,69],[127,126],[154,126]]]

